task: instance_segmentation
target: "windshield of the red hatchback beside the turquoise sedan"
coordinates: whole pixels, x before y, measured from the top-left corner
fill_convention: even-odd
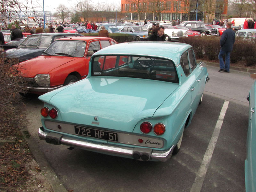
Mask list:
[[[84,41],[54,41],[48,49],[45,50],[46,55],[54,56],[72,56],[83,57],[86,47]]]

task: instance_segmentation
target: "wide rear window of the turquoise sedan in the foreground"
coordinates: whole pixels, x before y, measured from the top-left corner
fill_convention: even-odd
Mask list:
[[[92,76],[113,76],[152,79],[178,83],[171,60],[156,57],[111,55],[92,59]]]

